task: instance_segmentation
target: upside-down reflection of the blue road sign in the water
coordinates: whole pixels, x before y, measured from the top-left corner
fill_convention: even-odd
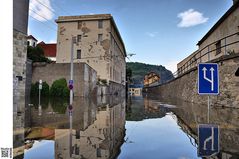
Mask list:
[[[213,156],[219,152],[219,126],[198,125],[198,156]]]

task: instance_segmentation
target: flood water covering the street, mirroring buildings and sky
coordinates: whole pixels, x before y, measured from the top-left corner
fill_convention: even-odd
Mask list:
[[[239,109],[211,106],[208,113],[204,105],[150,96],[74,98],[70,122],[68,99],[31,103],[24,143],[14,141],[24,147],[18,158],[196,159],[199,124],[219,126],[219,153],[211,158],[239,158]]]

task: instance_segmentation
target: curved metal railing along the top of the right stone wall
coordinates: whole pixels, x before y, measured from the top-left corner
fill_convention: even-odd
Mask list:
[[[223,42],[224,45],[221,46]],[[229,47],[235,44],[238,44],[238,46]],[[173,73],[173,76],[175,78],[178,77],[186,71],[195,68],[198,63],[208,62],[213,59],[219,58],[222,55],[229,55],[235,53],[235,48],[239,50],[239,32],[218,39],[217,41],[208,44],[202,49],[197,50],[191,58],[185,61],[185,63],[180,68],[178,68],[176,72]]]

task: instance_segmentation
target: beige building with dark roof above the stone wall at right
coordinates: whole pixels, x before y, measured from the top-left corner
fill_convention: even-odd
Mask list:
[[[239,53],[239,1],[233,0],[231,8],[197,43],[198,50],[177,64],[178,75],[198,63],[208,62],[223,55]]]

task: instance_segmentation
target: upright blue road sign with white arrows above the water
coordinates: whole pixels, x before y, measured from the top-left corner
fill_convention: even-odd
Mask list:
[[[198,65],[198,94],[219,94],[219,74],[217,63],[200,63]]]

